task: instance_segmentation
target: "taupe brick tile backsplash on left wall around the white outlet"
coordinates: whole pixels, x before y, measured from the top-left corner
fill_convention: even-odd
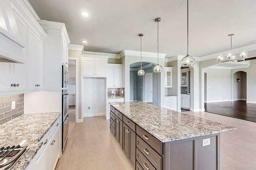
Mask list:
[[[15,109],[12,109],[15,101]],[[24,114],[24,94],[0,96],[0,125]]]

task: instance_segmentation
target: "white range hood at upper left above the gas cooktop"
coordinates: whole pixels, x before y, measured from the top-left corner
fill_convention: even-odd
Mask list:
[[[10,0],[0,0],[0,62],[25,63],[24,47]]]

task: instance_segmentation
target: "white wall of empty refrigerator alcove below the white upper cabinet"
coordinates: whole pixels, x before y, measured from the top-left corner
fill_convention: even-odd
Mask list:
[[[106,78],[84,77],[82,95],[84,117],[105,115]]]

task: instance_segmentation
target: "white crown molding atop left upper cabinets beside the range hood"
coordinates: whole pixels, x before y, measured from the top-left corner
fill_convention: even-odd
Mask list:
[[[36,33],[40,35],[40,37],[46,36],[44,29],[39,25],[36,12],[28,2],[28,0],[10,0],[12,4],[12,8],[18,13],[18,15],[25,20],[30,28],[36,30]]]

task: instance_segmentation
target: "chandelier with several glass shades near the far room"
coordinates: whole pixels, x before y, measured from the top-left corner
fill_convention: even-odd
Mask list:
[[[241,59],[244,61],[245,57],[247,57],[247,51],[245,51],[245,50],[240,51],[240,59],[236,59],[236,56],[232,53],[232,36],[233,35],[234,35],[234,33],[228,35],[228,36],[230,36],[230,51],[227,53],[228,60],[224,60],[223,55],[220,54],[217,57],[219,63],[224,63],[227,61],[234,62],[235,60],[241,60]]]

